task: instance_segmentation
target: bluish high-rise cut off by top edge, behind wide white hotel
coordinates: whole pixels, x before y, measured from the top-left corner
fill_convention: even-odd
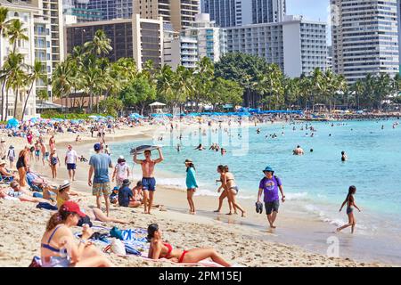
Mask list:
[[[222,28],[282,21],[285,11],[285,0],[201,0],[201,12]]]

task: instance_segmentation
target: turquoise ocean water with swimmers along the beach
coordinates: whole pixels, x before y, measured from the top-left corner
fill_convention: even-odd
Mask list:
[[[216,124],[202,126],[202,131],[195,127],[195,131],[172,133],[169,126],[163,126],[153,141],[115,143],[111,151],[113,159],[117,159],[119,155],[130,157],[133,146],[163,144],[166,161],[158,167],[158,173],[163,173],[158,183],[184,189],[184,159],[192,159],[201,186],[198,194],[202,195],[217,196],[217,165],[228,165],[240,187],[239,197],[252,200],[257,196],[262,169],[271,166],[275,175],[282,179],[289,202],[323,223],[332,224],[333,228],[347,221],[345,209],[343,213],[338,209],[348,193],[348,186],[353,184],[357,188],[356,204],[363,209],[363,213],[356,214],[358,232],[369,236],[385,232],[399,237],[401,126],[393,128],[395,121],[304,122],[249,128],[235,124],[231,132],[223,127],[218,133],[211,131],[218,129]],[[312,132],[306,130],[306,124],[316,129],[313,137],[310,136]],[[274,133],[277,134],[275,139],[268,136]],[[177,152],[179,134],[183,135],[183,146]],[[163,141],[158,141],[161,135]],[[200,142],[207,150],[194,151]],[[222,156],[209,151],[211,142],[224,144],[227,153]],[[292,155],[298,144],[304,149],[304,156]],[[341,162],[341,151],[347,152],[348,161]],[[157,156],[157,152],[153,153]],[[132,159],[127,160],[132,165]],[[139,177],[138,166],[134,167],[134,172]]]

